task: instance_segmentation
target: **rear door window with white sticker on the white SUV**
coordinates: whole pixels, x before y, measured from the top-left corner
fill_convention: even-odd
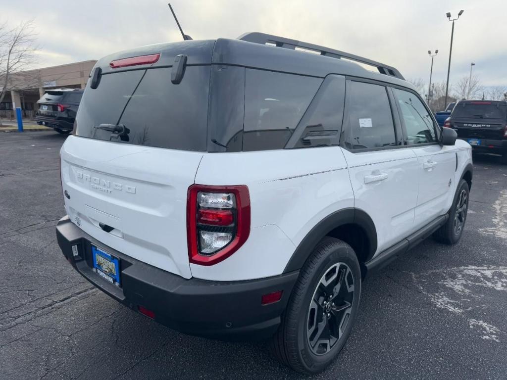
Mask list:
[[[384,86],[351,82],[347,95],[348,123],[342,136],[348,149],[396,145],[391,106]],[[347,121],[346,121],[347,122]]]

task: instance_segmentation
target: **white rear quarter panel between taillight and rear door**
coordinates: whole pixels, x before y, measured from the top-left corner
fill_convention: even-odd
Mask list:
[[[205,154],[196,183],[248,186],[251,229],[246,243],[226,260],[191,264],[193,277],[247,280],[276,276],[312,227],[353,207],[348,170],[339,147]]]

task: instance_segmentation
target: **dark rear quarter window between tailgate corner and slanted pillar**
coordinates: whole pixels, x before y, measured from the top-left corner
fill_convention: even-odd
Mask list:
[[[322,79],[246,69],[243,150],[282,149]]]

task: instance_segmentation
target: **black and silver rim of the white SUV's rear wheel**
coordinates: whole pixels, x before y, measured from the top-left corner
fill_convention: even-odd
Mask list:
[[[333,264],[320,279],[307,319],[307,339],[315,355],[325,355],[343,336],[354,302],[354,276],[347,264]]]

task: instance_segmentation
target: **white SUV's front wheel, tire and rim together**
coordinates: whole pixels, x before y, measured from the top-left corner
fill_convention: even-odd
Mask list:
[[[449,219],[433,233],[434,240],[442,244],[456,244],[459,241],[465,227],[468,198],[468,183],[462,179],[459,181],[456,194],[454,195]]]

